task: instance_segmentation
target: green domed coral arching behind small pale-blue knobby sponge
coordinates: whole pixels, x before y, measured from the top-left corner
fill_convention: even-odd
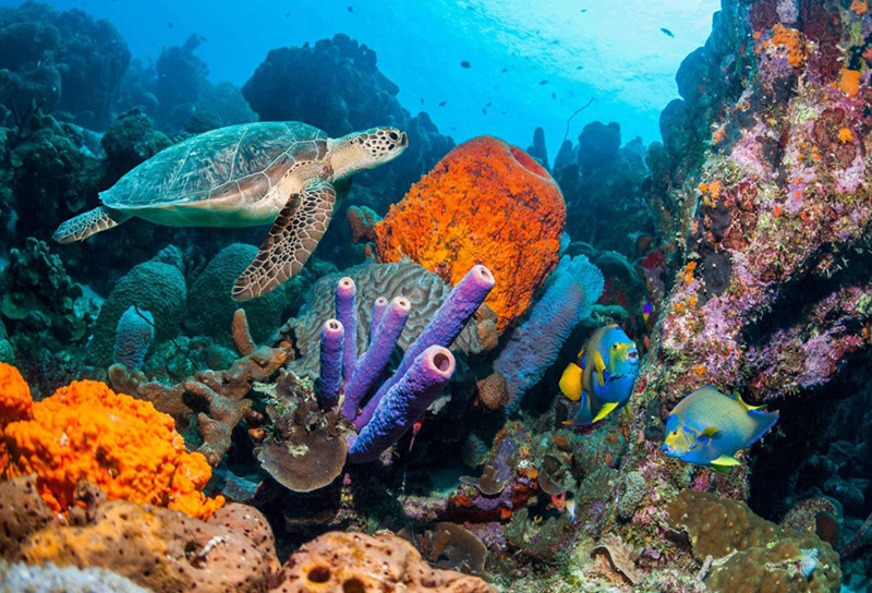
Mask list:
[[[131,305],[152,313],[158,341],[175,336],[187,295],[180,261],[181,252],[170,246],[155,258],[134,266],[118,281],[97,316],[94,337],[88,344],[90,362],[105,366],[112,364],[116,327]]]

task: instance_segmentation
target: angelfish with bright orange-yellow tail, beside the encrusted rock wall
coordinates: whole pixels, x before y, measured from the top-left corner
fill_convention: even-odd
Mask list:
[[[602,327],[560,377],[560,391],[581,400],[576,416],[566,424],[593,424],[630,400],[639,375],[635,342],[616,324]]]

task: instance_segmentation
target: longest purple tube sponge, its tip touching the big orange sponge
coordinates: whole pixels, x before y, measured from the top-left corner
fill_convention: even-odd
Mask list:
[[[405,375],[424,350],[431,346],[449,347],[460,335],[463,326],[470,320],[491,289],[494,288],[494,275],[485,266],[473,266],[460,282],[451,290],[443,305],[436,311],[421,336],[409,347],[393,376],[376,391],[354,421],[361,429],[376,410],[382,398]],[[338,302],[338,301],[337,301]],[[340,317],[341,318],[341,317]]]

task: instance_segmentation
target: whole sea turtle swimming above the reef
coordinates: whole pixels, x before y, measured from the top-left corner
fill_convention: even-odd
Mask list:
[[[374,128],[330,138],[300,122],[242,123],[180,142],[141,164],[109,190],[102,205],[63,222],[61,243],[82,241],[132,217],[171,227],[272,223],[237,279],[246,301],[293,277],[330,222],[335,183],[399,156],[404,132]]]

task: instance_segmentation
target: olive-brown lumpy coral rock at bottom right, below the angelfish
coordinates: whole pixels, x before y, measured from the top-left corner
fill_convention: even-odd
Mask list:
[[[682,491],[666,509],[673,524],[690,536],[693,556],[714,559],[706,578],[713,591],[762,590],[775,583],[796,593],[840,590],[838,554],[812,533],[789,534],[744,503],[705,492]],[[810,574],[799,570],[804,549],[816,550],[816,568]]]

